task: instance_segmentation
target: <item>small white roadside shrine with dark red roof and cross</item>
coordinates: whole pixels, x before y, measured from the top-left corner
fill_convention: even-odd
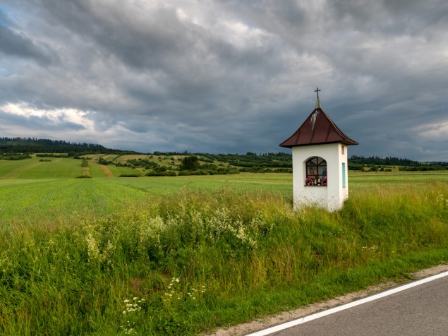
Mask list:
[[[280,146],[292,149],[294,209],[317,205],[332,212],[349,197],[347,146],[358,143],[320,107],[319,91],[314,111]]]

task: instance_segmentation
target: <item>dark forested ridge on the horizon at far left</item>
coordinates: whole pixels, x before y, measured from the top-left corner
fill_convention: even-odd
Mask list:
[[[38,138],[0,138],[0,153],[2,154],[32,154],[32,153],[68,153],[83,155],[92,153],[104,154],[135,154],[137,152],[114,150],[96,143],[71,143],[64,140]]]

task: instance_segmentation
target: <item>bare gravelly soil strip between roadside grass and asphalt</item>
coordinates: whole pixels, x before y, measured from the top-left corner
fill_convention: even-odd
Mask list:
[[[448,265],[438,265],[433,268],[428,268],[426,270],[420,270],[418,272],[414,272],[411,274],[411,278],[413,280],[420,280],[425,277],[430,277],[432,275],[436,275],[442,272],[448,271]],[[409,280],[411,281],[411,280]],[[343,296],[338,296],[334,299],[330,299],[324,302],[317,302],[315,304],[310,304],[309,306],[304,306],[298,308],[294,311],[285,311],[283,313],[279,313],[275,316],[268,316],[266,318],[262,318],[260,320],[255,320],[249,323],[243,323],[241,325],[235,325],[229,328],[222,328],[217,330],[212,334],[208,334],[209,336],[242,336],[248,335],[251,332],[256,332],[259,330],[263,330],[266,328],[270,328],[274,325],[279,325],[281,323],[286,323],[291,320],[296,320],[297,318],[302,318],[304,316],[311,315],[313,313],[317,313],[319,311],[325,311],[329,308],[334,308],[336,306],[341,306],[343,304],[349,304],[352,301],[356,301],[358,299],[362,299],[363,297],[370,296],[379,292],[384,292],[387,289],[391,289],[392,287],[396,287],[396,282],[382,282],[380,284],[375,284],[374,286],[370,286],[366,289],[363,289],[358,292],[353,292],[350,294],[346,294]]]

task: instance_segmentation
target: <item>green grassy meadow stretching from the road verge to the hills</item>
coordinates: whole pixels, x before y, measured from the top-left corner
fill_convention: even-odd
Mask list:
[[[445,172],[350,173],[328,213],[291,174],[92,169],[0,161],[1,335],[198,335],[448,262]]]

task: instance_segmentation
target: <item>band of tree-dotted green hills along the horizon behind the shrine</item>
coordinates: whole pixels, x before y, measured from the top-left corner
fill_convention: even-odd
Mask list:
[[[37,138],[0,138],[0,162],[34,160],[35,157],[52,158],[52,164],[36,164],[28,161],[22,164],[1,164],[1,176],[20,176],[36,178],[39,176],[76,176],[71,164],[56,167],[56,159],[85,158],[92,164],[108,166],[107,169],[90,167],[91,177],[102,176],[177,176],[177,175],[216,175],[252,173],[291,173],[291,152],[268,152],[257,154],[208,154],[187,152],[139,153],[104,148],[94,143],[69,143],[64,140]],[[190,163],[188,163],[190,162]],[[19,167],[13,172],[14,167]],[[22,167],[23,166],[23,167]],[[349,158],[349,170],[358,172],[396,172],[401,171],[440,171],[448,169],[448,162],[418,162],[397,157],[363,157],[353,155]],[[86,169],[85,169],[86,170]],[[107,172],[105,172],[107,171]],[[8,175],[10,174],[10,175]],[[83,174],[87,174],[83,172]]]

